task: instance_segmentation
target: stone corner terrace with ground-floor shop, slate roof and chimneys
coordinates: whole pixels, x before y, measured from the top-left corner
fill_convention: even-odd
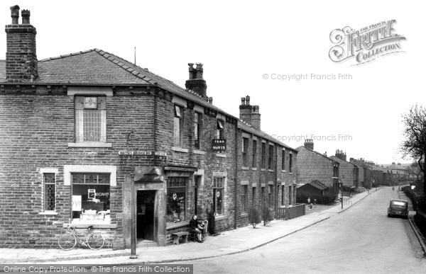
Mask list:
[[[132,219],[164,246],[194,214],[223,231],[251,206],[295,204],[297,151],[261,131],[249,98],[240,118],[213,105],[202,64],[183,89],[103,50],[38,60],[19,10],[0,60],[0,247],[58,248],[69,224],[129,247]]]

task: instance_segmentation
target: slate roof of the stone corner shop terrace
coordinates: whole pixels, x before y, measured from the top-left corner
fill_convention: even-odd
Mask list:
[[[0,82],[5,81],[6,60],[0,60]],[[219,113],[234,117],[234,115],[230,115],[224,112],[224,110],[208,103],[197,93],[187,91],[173,83],[173,81],[149,72],[148,69],[143,69],[126,59],[99,49],[85,50],[38,60],[38,78],[35,79],[34,83],[89,86],[159,86],[182,98],[189,99],[200,105],[212,108]],[[238,120],[238,118],[236,119]],[[238,127],[246,132],[251,132],[258,137],[268,139],[271,142],[297,152],[297,150],[288,147],[288,145],[278,141],[271,135],[261,130],[256,130],[240,120],[238,121]]]

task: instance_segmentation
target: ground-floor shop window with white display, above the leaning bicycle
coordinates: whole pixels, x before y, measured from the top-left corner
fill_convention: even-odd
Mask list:
[[[72,222],[110,223],[109,173],[72,173]]]

